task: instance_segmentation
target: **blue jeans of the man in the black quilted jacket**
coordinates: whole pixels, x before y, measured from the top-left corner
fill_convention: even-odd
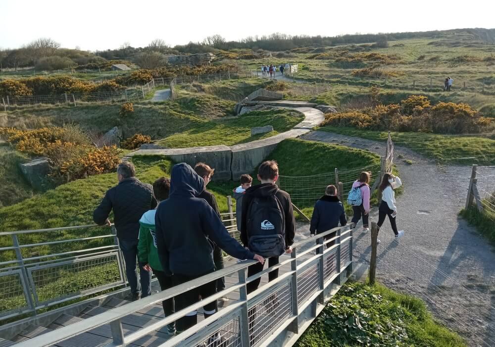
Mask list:
[[[131,293],[137,294],[141,288],[141,297],[147,297],[151,294],[151,271],[148,272],[139,265],[139,273],[141,277],[141,286],[138,282],[138,274],[136,273],[136,261],[138,259],[138,242],[139,240],[123,240],[119,239],[120,250],[124,256],[125,274]]]

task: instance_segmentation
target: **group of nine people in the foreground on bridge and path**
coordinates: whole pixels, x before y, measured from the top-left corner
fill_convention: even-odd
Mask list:
[[[119,164],[119,183],[106,192],[94,211],[93,219],[99,225],[111,225],[108,216],[113,211],[133,300],[151,294],[151,274],[156,276],[163,291],[222,269],[222,250],[240,260],[257,261],[248,267],[248,277],[263,270],[265,258],[268,258],[268,266],[271,267],[279,263],[282,254],[292,253],[296,222],[290,195],[276,185],[279,178],[277,162],[269,160],[260,164],[257,174],[260,184],[252,186],[252,178],[242,175],[240,186],[233,191],[237,201],[236,221],[242,245],[225,228],[215,196],[206,190],[213,174],[214,169],[205,163],[197,163],[194,169],[186,163],[180,163],[173,166],[170,179],[160,177],[151,186],[135,177],[135,168],[131,162],[123,161]],[[365,230],[368,228],[370,208],[369,180],[369,173],[361,173],[352,186],[352,194],[349,193],[349,198],[355,198],[351,201],[354,211],[352,223],[362,218]],[[403,235],[403,231],[396,230],[393,191],[400,185],[400,179],[392,174],[385,174],[380,185],[383,200],[378,226],[382,226],[388,215],[396,237]],[[313,236],[326,232],[339,223],[342,226],[347,224],[346,213],[336,187],[330,185],[315,204],[310,234]],[[327,239],[332,237],[327,236]],[[327,247],[333,244],[334,241],[328,243]],[[139,281],[136,263],[139,265]],[[268,274],[269,281],[277,277],[278,269]],[[258,278],[247,284],[247,294],[258,288],[260,280]],[[224,289],[224,278],[219,278],[164,300],[162,305],[165,316]],[[228,298],[223,297],[221,300],[228,301]],[[265,300],[266,305],[275,307],[277,300],[273,295]],[[217,300],[203,306],[205,318],[217,311]],[[253,326],[255,316],[256,309],[253,307],[248,312],[249,329]],[[197,322],[197,311],[189,312],[177,322],[169,324],[168,333],[174,335]],[[211,343],[226,341],[219,333],[212,335],[209,340]]]

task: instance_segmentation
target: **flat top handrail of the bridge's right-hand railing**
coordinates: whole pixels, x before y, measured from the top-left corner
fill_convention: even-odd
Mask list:
[[[312,243],[312,242],[314,242],[315,239],[324,238],[325,236],[327,236],[333,232],[336,232],[336,231],[339,231],[342,229],[347,229],[350,226],[351,225],[346,225],[343,227],[337,227],[337,228],[331,229],[327,232],[318,234],[317,237],[315,237],[315,238],[301,240],[301,241],[295,243],[293,245],[293,248],[297,248],[299,246],[302,246],[302,245],[310,243],[310,242]],[[321,245],[321,246],[323,246],[323,245]],[[291,259],[284,261],[284,263],[293,262],[296,259],[297,259],[297,256],[291,257]],[[228,266],[224,269],[218,270],[218,271],[214,271],[210,274],[201,276],[201,277],[194,279],[192,281],[188,281],[188,282],[183,283],[181,285],[172,287],[172,288],[167,289],[167,290],[160,292],[158,294],[143,298],[139,301],[130,302],[126,305],[119,306],[117,308],[113,308],[107,312],[100,313],[100,314],[92,317],[91,319],[85,319],[85,320],[82,320],[80,322],[71,324],[69,326],[61,327],[61,328],[57,329],[56,331],[52,331],[52,332],[43,334],[41,336],[35,337],[35,338],[30,339],[30,340],[25,341],[25,342],[21,342],[20,344],[18,344],[16,346],[17,347],[32,347],[32,346],[48,347],[48,346],[55,345],[61,341],[67,340],[67,339],[74,337],[76,335],[80,335],[80,334],[85,333],[89,330],[95,329],[101,325],[119,321],[121,318],[123,318],[127,315],[130,315],[130,314],[133,314],[138,310],[141,310],[145,307],[148,307],[148,306],[156,304],[156,303],[160,303],[163,300],[166,300],[166,299],[169,299],[172,297],[176,297],[179,294],[182,294],[184,292],[198,288],[199,286],[202,286],[205,283],[216,281],[218,278],[226,277],[229,274],[232,274],[234,272],[238,272],[240,270],[245,270],[245,269],[247,269],[247,267],[249,267],[250,265],[252,265],[254,263],[256,263],[254,260],[244,260],[240,263],[230,265],[230,266]],[[275,267],[278,268],[279,265],[280,264],[275,265],[273,267],[270,267],[266,271],[273,270],[273,268],[275,268]],[[266,271],[264,271],[264,272],[266,272]],[[255,276],[252,276],[251,278],[254,278],[254,277],[257,277],[257,276],[255,275]],[[249,278],[249,279],[251,279],[251,278]],[[219,296],[219,295],[221,295],[221,293],[216,294],[216,296]],[[209,297],[209,298],[211,298],[211,297]],[[188,311],[188,310],[190,311],[192,306],[201,307],[204,305],[204,302],[205,301],[203,300],[203,302],[195,303],[194,305],[188,306],[183,311]],[[170,317],[172,317],[172,316],[170,316]],[[174,319],[176,319],[175,317],[176,316],[174,315]],[[153,327],[155,329],[158,329],[159,327],[163,327],[169,323],[170,319],[167,320],[167,318],[165,318],[165,319],[161,320],[160,322],[157,322],[156,324],[154,324]],[[128,340],[127,339],[125,339],[125,340],[127,343]]]

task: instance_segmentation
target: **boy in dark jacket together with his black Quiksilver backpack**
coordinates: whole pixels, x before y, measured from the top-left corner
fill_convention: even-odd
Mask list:
[[[296,236],[296,220],[291,197],[278,189],[275,182],[279,176],[275,160],[259,165],[258,180],[261,184],[246,190],[243,198],[241,219],[241,242],[256,254],[268,259],[268,266],[279,263],[284,252],[292,253]],[[263,271],[263,264],[253,264],[247,269],[247,277]],[[268,274],[268,280],[278,277],[278,269]],[[254,292],[260,283],[258,278],[247,284],[247,293]]]

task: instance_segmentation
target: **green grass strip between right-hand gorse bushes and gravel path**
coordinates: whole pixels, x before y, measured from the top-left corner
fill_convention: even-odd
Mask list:
[[[388,132],[357,130],[354,128],[325,126],[319,131],[360,137],[368,140],[386,141]],[[392,132],[396,146],[407,147],[427,157],[444,163],[493,165],[495,163],[495,140],[479,136],[446,136],[424,133]]]

